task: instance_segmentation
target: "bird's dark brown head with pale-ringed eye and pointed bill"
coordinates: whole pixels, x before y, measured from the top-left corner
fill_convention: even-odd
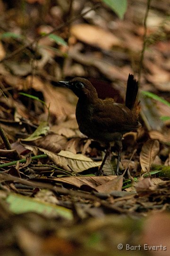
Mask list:
[[[71,81],[59,81],[57,82],[60,86],[71,89],[79,98],[96,98],[97,92],[90,81],[85,78],[76,77]]]

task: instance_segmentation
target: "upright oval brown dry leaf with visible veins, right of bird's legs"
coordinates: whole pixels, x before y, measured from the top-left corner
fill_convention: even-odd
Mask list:
[[[159,141],[158,140],[147,140],[141,150],[140,153],[140,164],[143,172],[149,172],[153,160],[160,150]]]

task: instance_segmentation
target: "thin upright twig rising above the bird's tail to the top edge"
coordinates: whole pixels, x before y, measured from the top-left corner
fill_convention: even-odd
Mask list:
[[[145,16],[144,16],[143,48],[142,48],[141,58],[140,58],[140,62],[139,62],[138,85],[140,85],[140,79],[141,79],[141,73],[142,73],[143,61],[144,61],[144,51],[145,51],[146,42],[147,42],[147,37],[146,37],[147,24],[146,24],[146,20],[147,20],[147,17],[148,17],[148,12],[149,12],[149,9],[150,9],[150,5],[151,5],[151,0],[147,0],[147,9],[146,9],[146,13],[145,13]]]

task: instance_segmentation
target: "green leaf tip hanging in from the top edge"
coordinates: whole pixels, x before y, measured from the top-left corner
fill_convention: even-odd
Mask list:
[[[119,18],[123,18],[127,10],[127,0],[102,0],[112,9]]]

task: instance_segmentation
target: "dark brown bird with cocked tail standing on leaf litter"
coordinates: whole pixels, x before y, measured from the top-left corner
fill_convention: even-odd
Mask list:
[[[105,143],[106,154],[97,175],[103,175],[102,168],[110,154],[112,142],[118,149],[116,174],[119,175],[119,162],[122,151],[122,137],[129,131],[141,127],[138,121],[140,102],[137,99],[138,82],[133,74],[128,75],[125,104],[112,98],[100,99],[92,83],[82,77],[70,81],[58,81],[59,86],[72,90],[78,97],[76,120],[79,130],[87,137]]]

